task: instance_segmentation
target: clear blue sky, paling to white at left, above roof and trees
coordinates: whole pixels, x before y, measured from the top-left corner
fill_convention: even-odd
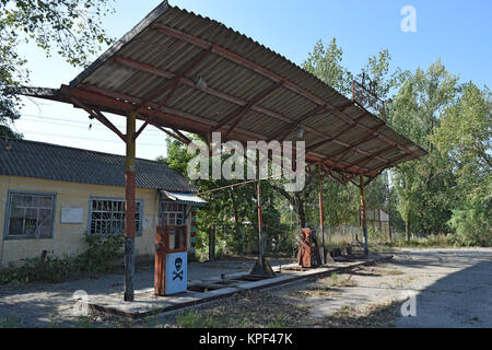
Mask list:
[[[161,1],[117,0],[116,14],[103,25],[119,39]],[[426,68],[441,58],[461,81],[479,86],[492,82],[492,1],[443,0],[171,0],[172,5],[209,16],[301,65],[317,39],[336,37],[343,48],[344,66],[360,71],[367,58],[389,49],[394,67]],[[417,32],[403,33],[400,14],[412,5]],[[35,46],[24,46],[31,85],[59,88],[80,71],[59,57],[45,58]],[[71,105],[24,98],[22,118],[14,129],[25,139],[102,152],[125,154],[124,142]],[[122,117],[110,117],[124,130]],[[148,127],[137,142],[137,156],[165,154],[164,133]]]

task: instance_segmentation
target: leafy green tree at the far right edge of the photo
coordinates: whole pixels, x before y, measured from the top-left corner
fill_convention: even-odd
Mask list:
[[[492,245],[491,96],[487,86],[481,91],[472,82],[465,84],[431,137],[457,175],[459,200],[448,224],[462,245]]]

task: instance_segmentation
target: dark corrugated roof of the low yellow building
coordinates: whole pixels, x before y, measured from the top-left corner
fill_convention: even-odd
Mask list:
[[[197,192],[166,164],[137,159],[137,187]],[[20,139],[0,138],[0,175],[125,186],[125,156]]]

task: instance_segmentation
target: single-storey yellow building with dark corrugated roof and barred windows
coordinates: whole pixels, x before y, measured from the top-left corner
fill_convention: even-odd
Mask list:
[[[181,226],[195,250],[197,188],[165,163],[137,159],[136,254],[153,255],[159,224]],[[0,138],[0,266],[77,255],[85,235],[124,233],[125,156]]]

